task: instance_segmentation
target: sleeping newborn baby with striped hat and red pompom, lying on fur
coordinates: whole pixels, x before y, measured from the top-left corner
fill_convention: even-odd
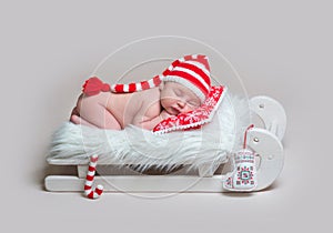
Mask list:
[[[171,115],[199,108],[211,89],[205,55],[185,55],[151,80],[110,87],[98,78],[83,85],[70,121],[93,128],[122,130],[133,124],[152,130]]]

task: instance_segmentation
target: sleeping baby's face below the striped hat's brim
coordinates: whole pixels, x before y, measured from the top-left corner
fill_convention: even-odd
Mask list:
[[[201,105],[200,99],[188,88],[176,82],[165,82],[161,90],[161,105],[172,115],[192,111]]]

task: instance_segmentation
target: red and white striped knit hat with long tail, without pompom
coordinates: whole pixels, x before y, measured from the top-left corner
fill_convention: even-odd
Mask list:
[[[208,57],[202,54],[185,55],[172,62],[160,75],[138,83],[113,84],[111,85],[111,91],[115,93],[131,93],[159,87],[162,81],[183,84],[203,102],[211,89]]]

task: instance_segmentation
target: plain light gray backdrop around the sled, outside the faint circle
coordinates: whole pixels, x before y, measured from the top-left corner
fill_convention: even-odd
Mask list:
[[[327,232],[332,21],[330,1],[1,1],[1,229]],[[68,119],[82,81],[119,47],[159,34],[213,45],[250,95],[284,105],[286,158],[273,188],[99,201],[43,191],[51,133]]]

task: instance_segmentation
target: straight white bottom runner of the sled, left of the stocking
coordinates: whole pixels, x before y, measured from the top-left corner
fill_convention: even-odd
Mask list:
[[[222,175],[112,175],[95,176],[105,192],[223,192]],[[46,189],[52,192],[83,192],[84,179],[73,175],[49,175]]]

